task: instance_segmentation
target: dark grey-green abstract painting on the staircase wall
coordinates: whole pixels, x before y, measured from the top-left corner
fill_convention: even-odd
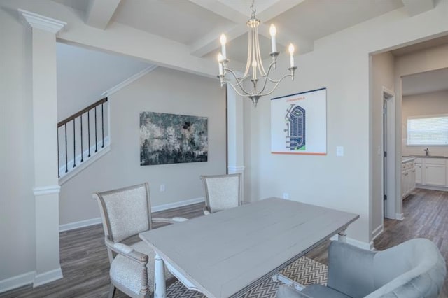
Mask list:
[[[140,113],[140,165],[207,162],[207,117]]]

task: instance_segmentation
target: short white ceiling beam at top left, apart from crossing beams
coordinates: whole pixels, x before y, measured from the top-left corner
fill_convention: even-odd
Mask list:
[[[120,0],[89,0],[85,24],[102,30],[106,29],[118,4]]]

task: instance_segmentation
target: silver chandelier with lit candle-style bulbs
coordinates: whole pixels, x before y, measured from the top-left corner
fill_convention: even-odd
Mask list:
[[[273,80],[272,78],[269,78],[269,73],[271,72],[272,68],[276,69],[277,57],[279,56],[279,52],[277,52],[276,49],[275,41],[276,28],[274,24],[271,24],[271,27],[269,28],[269,34],[271,35],[272,43],[272,52],[269,54],[269,56],[272,57],[272,62],[271,64],[269,64],[267,71],[265,71],[265,67],[263,66],[260,55],[260,43],[258,41],[258,26],[260,25],[260,20],[255,17],[256,10],[253,3],[254,1],[255,0],[252,1],[251,5],[251,19],[247,21],[247,27],[249,29],[246,70],[244,71],[244,74],[242,76],[237,76],[237,73],[235,71],[232,71],[232,69],[228,68],[227,64],[229,60],[227,59],[227,56],[225,54],[225,43],[227,41],[227,38],[225,37],[225,34],[221,34],[221,52],[218,54],[218,78],[221,81],[221,87],[223,87],[223,85],[225,84],[230,84],[230,86],[232,86],[232,88],[240,97],[248,97],[253,102],[253,106],[256,107],[258,99],[274,92],[281,80],[287,77],[291,77],[291,80],[294,80],[294,72],[297,67],[294,66],[294,45],[291,43],[288,47],[290,55],[290,67],[288,68],[289,73],[281,77],[279,80]],[[249,73],[249,71],[251,71],[251,73]],[[228,78],[227,76],[228,73],[230,73],[231,75],[230,78]],[[251,78],[251,91],[246,90],[243,85],[244,80],[246,80],[247,78]],[[232,79],[235,79],[236,83],[231,83]],[[268,81],[274,85],[272,87],[272,90],[265,91]]]

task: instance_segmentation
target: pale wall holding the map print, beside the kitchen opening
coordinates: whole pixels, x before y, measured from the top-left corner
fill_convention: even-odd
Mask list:
[[[369,55],[448,34],[447,7],[448,2],[442,1],[414,17],[402,8],[394,10],[326,36],[316,41],[314,52],[297,57],[295,82],[282,83],[271,97],[327,87],[326,156],[272,155],[269,98],[260,99],[257,108],[246,101],[246,197],[253,201],[288,192],[290,199],[358,213],[360,219],[347,232],[369,246],[373,154]],[[277,69],[286,69],[287,60],[279,59]],[[336,146],[344,146],[344,157],[336,156]]]

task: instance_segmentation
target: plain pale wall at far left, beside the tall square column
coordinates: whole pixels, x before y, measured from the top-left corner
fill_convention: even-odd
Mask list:
[[[31,31],[1,4],[0,41],[1,290],[2,280],[36,267]]]

